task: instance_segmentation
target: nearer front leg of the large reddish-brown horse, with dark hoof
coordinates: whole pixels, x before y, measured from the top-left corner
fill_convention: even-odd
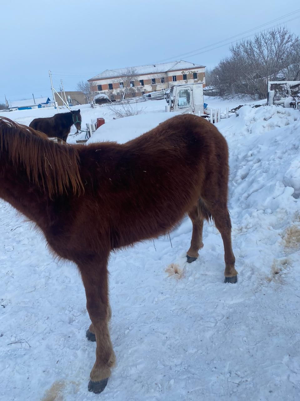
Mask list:
[[[86,291],[86,308],[96,336],[96,362],[90,373],[88,390],[101,393],[110,377],[115,355],[108,331],[108,272],[107,258],[100,263],[79,266]]]

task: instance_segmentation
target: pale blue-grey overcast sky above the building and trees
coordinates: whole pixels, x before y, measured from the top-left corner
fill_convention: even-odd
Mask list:
[[[60,79],[65,90],[75,90],[105,69],[164,59],[214,67],[229,45],[183,54],[291,12],[279,22],[300,16],[297,8],[282,0],[2,0],[0,103],[4,93],[9,101],[32,93],[52,99],[49,69],[57,90]],[[300,18],[286,26],[300,35]]]

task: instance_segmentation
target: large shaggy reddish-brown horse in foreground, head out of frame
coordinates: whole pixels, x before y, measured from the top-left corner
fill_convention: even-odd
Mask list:
[[[48,141],[0,119],[0,196],[81,273],[92,321],[87,337],[96,340],[90,391],[103,391],[115,362],[108,331],[110,251],[166,234],[188,213],[190,262],[203,246],[203,221],[212,217],[224,242],[225,282],[235,283],[227,186],[226,140],[201,117],[178,115],[126,144],[88,146]]]

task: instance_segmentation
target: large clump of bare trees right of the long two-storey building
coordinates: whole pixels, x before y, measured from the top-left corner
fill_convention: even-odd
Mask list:
[[[206,73],[207,83],[216,87],[220,96],[248,94],[264,99],[268,81],[300,76],[299,38],[285,27],[240,41],[230,47],[230,52],[230,57]]]

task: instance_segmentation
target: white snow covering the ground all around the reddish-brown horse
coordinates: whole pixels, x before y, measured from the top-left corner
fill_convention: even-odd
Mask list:
[[[112,122],[105,106],[80,109],[84,124],[109,122],[99,139],[122,125],[122,135],[111,130],[121,141],[138,134],[142,120],[145,132],[154,118],[162,121],[165,104],[140,103],[147,108],[130,124]],[[95,343],[85,338],[89,319],[76,267],[56,262],[40,234],[0,200],[1,401],[299,399],[300,113],[275,106],[238,112],[217,125],[230,148],[238,283],[223,284],[222,239],[212,224],[204,226],[204,248],[190,265],[189,219],[171,233],[172,247],[162,237],[112,254],[117,366],[100,395],[87,391]],[[29,124],[40,113],[53,110],[5,115]]]

